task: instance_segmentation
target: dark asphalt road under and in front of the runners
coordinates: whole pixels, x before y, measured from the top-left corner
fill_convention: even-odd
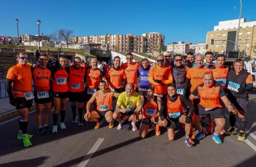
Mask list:
[[[35,112],[29,114],[28,133],[34,137],[30,139],[32,146],[28,148],[23,147],[22,140],[17,139],[18,119],[1,124],[0,166],[78,166],[83,160],[89,160],[86,166],[254,166],[256,93],[250,92],[249,96],[246,128],[251,133],[246,133],[247,140],[238,141],[237,135],[223,136],[224,143],[216,144],[212,135],[208,135],[195,140],[195,147],[188,147],[184,142],[185,132],[179,123],[174,141],[168,140],[164,128],[160,136],[150,129],[148,138],[140,139],[139,131],[117,130],[117,122],[113,129],[109,129],[105,121],[97,130],[94,130],[94,123],[78,127],[77,123],[72,123],[68,102],[65,118],[67,129],[59,129],[57,134],[38,136]],[[229,115],[227,111],[226,114]],[[226,121],[227,130],[230,126],[228,118]],[[49,125],[52,126],[52,115]],[[140,122],[137,127],[139,125]],[[98,143],[98,139],[103,141]]]

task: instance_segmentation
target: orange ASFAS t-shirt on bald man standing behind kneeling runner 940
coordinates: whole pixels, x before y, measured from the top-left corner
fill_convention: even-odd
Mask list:
[[[188,70],[186,77],[190,79],[190,92],[193,92],[197,85],[203,83],[203,75],[205,72],[212,73],[212,71],[209,68],[204,70],[203,68],[196,68],[196,66]]]

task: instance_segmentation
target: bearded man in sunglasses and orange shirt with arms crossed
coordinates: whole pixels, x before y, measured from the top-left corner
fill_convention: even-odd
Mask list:
[[[148,80],[155,87],[154,95],[163,97],[163,95],[167,94],[167,85],[172,83],[172,71],[171,68],[164,66],[164,56],[158,55],[156,61],[156,68],[150,69]]]

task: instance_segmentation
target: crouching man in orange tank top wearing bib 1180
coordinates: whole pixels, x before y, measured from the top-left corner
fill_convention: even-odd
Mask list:
[[[99,129],[102,123],[102,119],[105,117],[109,123],[108,127],[114,127],[113,119],[113,107],[112,107],[112,96],[118,97],[120,93],[110,91],[107,89],[107,83],[100,81],[99,91],[93,93],[91,99],[86,104],[86,113],[84,119],[90,122],[96,122],[94,129]],[[93,101],[96,100],[97,109],[90,112],[90,107]]]

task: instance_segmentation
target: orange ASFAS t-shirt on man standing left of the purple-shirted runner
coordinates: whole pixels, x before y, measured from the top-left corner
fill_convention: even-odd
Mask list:
[[[140,64],[132,61],[132,64],[123,63],[121,68],[124,69],[124,72],[127,77],[127,83],[133,83],[134,87],[138,87],[138,69],[141,68]]]

